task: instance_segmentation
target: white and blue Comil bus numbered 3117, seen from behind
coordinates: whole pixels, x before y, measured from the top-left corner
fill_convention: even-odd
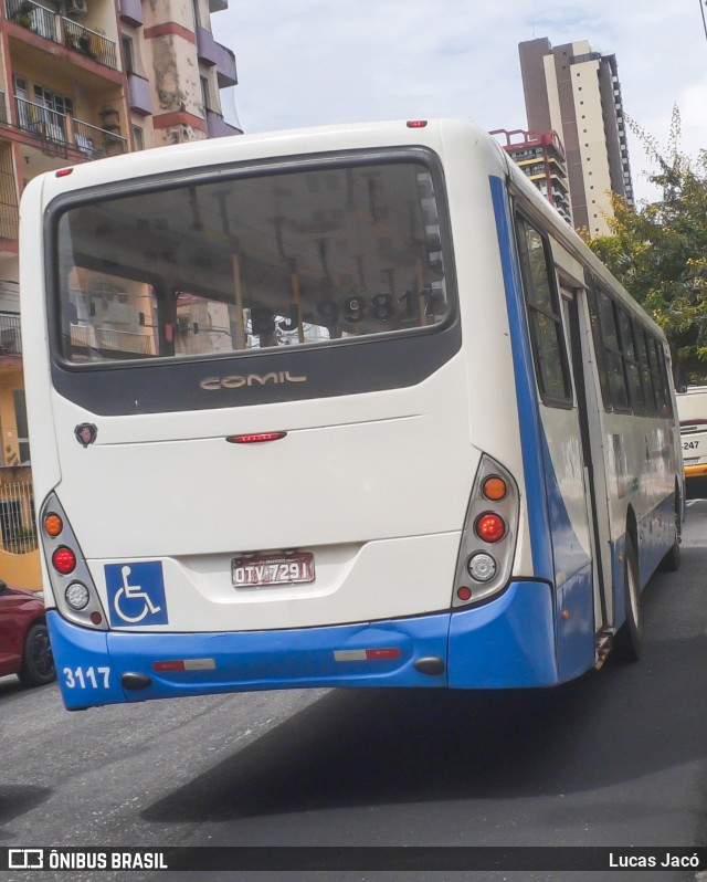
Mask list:
[[[639,655],[679,560],[668,348],[471,124],[44,175],[21,290],[70,710]]]

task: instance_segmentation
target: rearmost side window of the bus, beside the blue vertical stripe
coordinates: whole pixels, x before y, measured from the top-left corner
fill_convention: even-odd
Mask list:
[[[544,403],[572,407],[567,347],[549,246],[525,218],[518,218],[518,256],[530,344]]]

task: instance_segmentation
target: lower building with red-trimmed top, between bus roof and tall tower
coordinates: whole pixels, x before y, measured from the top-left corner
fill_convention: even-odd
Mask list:
[[[548,202],[571,224],[567,160],[557,132],[507,132],[497,128],[490,134]]]

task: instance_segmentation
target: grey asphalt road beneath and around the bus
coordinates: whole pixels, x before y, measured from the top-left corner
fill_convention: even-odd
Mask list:
[[[272,692],[70,714],[0,679],[0,844],[707,844],[707,502],[644,592],[644,657],[555,690]],[[18,873],[11,880],[194,873]],[[401,872],[218,872],[337,882]],[[694,871],[421,871],[428,880]]]

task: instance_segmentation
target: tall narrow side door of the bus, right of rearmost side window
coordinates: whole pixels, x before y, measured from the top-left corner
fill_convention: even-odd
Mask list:
[[[611,548],[606,465],[604,462],[603,409],[597,374],[587,292],[560,283],[562,309],[569,328],[570,357],[583,456],[587,514],[590,524],[593,560],[594,622],[599,636],[614,620],[611,589]]]

